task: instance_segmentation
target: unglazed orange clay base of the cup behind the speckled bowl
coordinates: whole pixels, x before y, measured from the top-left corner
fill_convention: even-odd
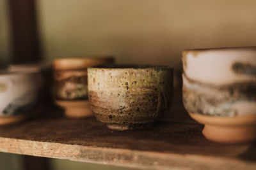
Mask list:
[[[65,115],[69,118],[92,117],[90,103],[86,101],[55,101],[58,106],[65,109]]]

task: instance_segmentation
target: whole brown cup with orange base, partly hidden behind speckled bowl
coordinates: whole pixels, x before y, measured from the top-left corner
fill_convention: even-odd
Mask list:
[[[113,64],[113,57],[84,57],[54,60],[54,99],[71,118],[92,116],[88,102],[87,67]]]

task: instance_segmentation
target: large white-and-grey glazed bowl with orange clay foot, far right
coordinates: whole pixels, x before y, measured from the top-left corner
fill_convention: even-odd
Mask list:
[[[221,143],[256,139],[256,47],[185,50],[183,103]]]

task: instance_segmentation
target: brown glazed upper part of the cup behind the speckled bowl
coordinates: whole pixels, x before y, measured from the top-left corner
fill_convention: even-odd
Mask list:
[[[113,57],[67,58],[54,61],[54,96],[62,100],[88,99],[87,67],[112,64]]]

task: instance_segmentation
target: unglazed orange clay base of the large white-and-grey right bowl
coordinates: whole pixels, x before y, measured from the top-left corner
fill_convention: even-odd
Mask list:
[[[213,117],[189,113],[200,124],[209,141],[218,143],[250,143],[256,140],[256,116]]]

